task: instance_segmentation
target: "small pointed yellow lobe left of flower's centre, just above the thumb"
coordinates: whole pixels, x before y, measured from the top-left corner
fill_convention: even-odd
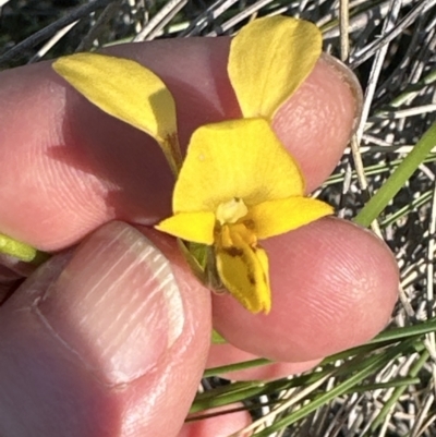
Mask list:
[[[213,213],[180,213],[162,220],[155,228],[194,243],[214,243],[215,215]]]

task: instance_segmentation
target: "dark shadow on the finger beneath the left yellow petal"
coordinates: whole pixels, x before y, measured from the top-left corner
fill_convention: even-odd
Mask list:
[[[70,143],[80,144],[80,155],[75,153],[76,156],[73,158],[76,162],[73,165],[78,168],[84,167],[83,179],[88,177],[87,173],[95,173],[101,180],[106,190],[104,202],[110,218],[121,216],[129,217],[130,221],[135,222],[155,221],[152,213],[147,214],[150,209],[150,198],[157,205],[168,203],[169,207],[169,194],[167,196],[166,183],[162,184],[167,166],[159,147],[147,134],[132,130],[118,120],[109,119],[109,116],[96,107],[88,106],[86,111],[89,113],[86,113],[86,117],[76,113],[74,108],[82,105],[87,104],[81,96],[71,96],[72,109],[70,108],[69,114],[74,132],[68,139]],[[83,131],[86,130],[92,131],[84,134]],[[108,139],[101,142],[102,137]],[[130,154],[125,153],[126,147]],[[171,180],[171,185],[172,183]],[[138,186],[142,185],[150,189],[140,192]]]

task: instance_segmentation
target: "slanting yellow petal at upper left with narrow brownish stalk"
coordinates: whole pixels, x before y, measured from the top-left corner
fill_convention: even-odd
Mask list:
[[[97,53],[60,58],[53,69],[98,108],[153,136],[177,174],[175,105],[155,73],[135,61]]]

